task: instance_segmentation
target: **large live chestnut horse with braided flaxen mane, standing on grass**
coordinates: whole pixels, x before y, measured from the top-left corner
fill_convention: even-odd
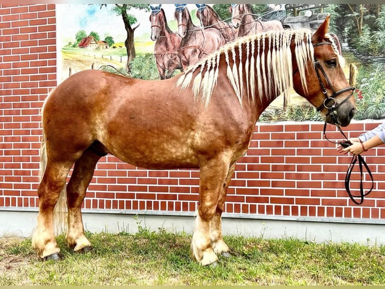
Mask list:
[[[63,81],[42,109],[43,174],[32,237],[39,256],[59,258],[53,227],[58,199],[66,200],[68,246],[75,252],[91,247],[80,207],[95,165],[107,154],[147,169],[199,168],[191,255],[202,265],[215,263],[217,254],[229,256],[221,230],[226,192],[262,111],[294,87],[329,123],[346,126],[354,115],[354,88],[328,25],[329,17],[314,34],[301,29],[238,38],[167,80],[85,70]]]

